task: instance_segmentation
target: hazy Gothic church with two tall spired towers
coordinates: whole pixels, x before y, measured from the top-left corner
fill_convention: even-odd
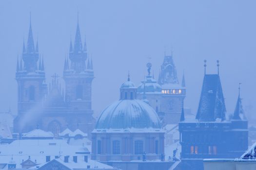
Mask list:
[[[37,126],[56,136],[67,127],[91,132],[95,122],[91,107],[94,71],[92,60],[87,56],[86,42],[82,43],[79,22],[74,45],[71,41],[69,57],[64,61],[65,89],[61,88],[56,74],[52,77],[48,86],[30,20],[27,45],[23,42],[22,55],[17,61],[18,116],[14,120],[14,132],[28,132]]]

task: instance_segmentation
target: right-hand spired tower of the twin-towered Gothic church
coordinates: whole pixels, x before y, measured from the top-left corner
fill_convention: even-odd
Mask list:
[[[64,62],[63,79],[65,81],[65,102],[68,103],[70,109],[77,111],[74,114],[79,112],[79,116],[82,116],[80,119],[79,117],[74,118],[71,124],[77,125],[78,123],[82,123],[85,126],[82,127],[82,125],[79,125],[79,128],[88,131],[85,121],[88,121],[88,124],[89,121],[95,122],[92,117],[92,81],[94,79],[94,71],[92,58],[89,59],[87,55],[85,40],[84,45],[82,44],[79,20],[74,46],[71,40],[69,58],[65,59]],[[73,117],[76,116],[74,115]],[[93,129],[93,126],[91,128]]]

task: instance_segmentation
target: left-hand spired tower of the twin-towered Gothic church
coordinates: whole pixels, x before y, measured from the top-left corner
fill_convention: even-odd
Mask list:
[[[18,82],[18,117],[14,120],[14,132],[28,131],[32,124],[21,122],[25,114],[35,106],[39,107],[40,102],[47,91],[45,84],[45,72],[43,59],[39,61],[38,42],[36,47],[32,34],[31,17],[28,32],[27,45],[23,40],[22,56],[17,61],[16,80]],[[21,124],[26,124],[21,126]],[[35,122],[36,123],[36,122]],[[29,127],[31,126],[31,127]]]

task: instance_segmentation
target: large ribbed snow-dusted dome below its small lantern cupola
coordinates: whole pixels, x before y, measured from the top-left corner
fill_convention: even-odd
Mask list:
[[[96,129],[161,129],[155,110],[141,100],[119,100],[104,109]]]

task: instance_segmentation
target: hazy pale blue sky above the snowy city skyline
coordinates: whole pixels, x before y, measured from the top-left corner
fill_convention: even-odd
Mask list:
[[[77,13],[81,35],[93,57],[93,108],[96,114],[118,100],[119,86],[139,85],[152,57],[158,78],[164,57],[173,50],[179,80],[185,70],[185,106],[195,113],[207,73],[220,76],[226,107],[233,112],[238,83],[245,108],[256,114],[256,1],[255,0],[1,0],[0,111],[17,111],[15,70],[23,37],[27,40],[29,12],[34,38],[39,39],[47,82],[62,76],[70,35],[75,37]]]

